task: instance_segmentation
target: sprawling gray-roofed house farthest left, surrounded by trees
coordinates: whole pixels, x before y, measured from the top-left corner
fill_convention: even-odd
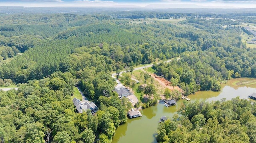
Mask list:
[[[86,110],[90,109],[92,114],[98,111],[98,107],[91,101],[86,100],[85,102],[81,102],[79,99],[73,99],[74,106],[76,106],[76,110],[78,113],[86,112]]]

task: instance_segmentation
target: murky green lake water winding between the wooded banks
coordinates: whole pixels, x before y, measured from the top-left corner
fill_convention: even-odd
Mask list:
[[[240,99],[248,97],[248,95],[256,92],[256,84],[248,86],[236,86],[234,85],[239,81],[250,80],[250,78],[239,78],[229,80],[226,84],[222,84],[222,91],[200,91],[194,95],[190,95],[190,102],[195,100],[216,101],[222,98],[231,100],[240,96]],[[162,116],[172,118],[174,114],[177,114],[177,110],[184,100],[179,100],[176,106],[166,107],[163,102],[158,103],[156,106],[152,106],[141,110],[142,117],[128,119],[127,123],[120,125],[116,129],[116,134],[112,143],[156,143],[155,135],[158,127],[158,121]]]

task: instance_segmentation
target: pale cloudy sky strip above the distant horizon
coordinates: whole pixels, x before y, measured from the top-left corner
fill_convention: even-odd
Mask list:
[[[0,0],[0,6],[256,8],[256,0]]]

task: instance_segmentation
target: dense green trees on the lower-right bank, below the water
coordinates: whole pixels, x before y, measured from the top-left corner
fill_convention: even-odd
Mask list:
[[[185,102],[172,119],[159,123],[159,143],[255,143],[256,104],[222,99]]]

